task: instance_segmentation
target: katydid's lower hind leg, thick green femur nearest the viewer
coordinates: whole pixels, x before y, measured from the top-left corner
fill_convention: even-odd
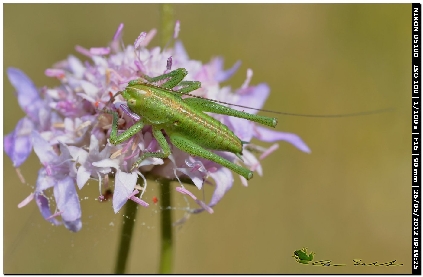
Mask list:
[[[238,166],[235,163],[232,163],[213,152],[204,149],[203,147],[199,146],[198,144],[190,141],[189,139],[181,136],[178,133],[173,133],[170,135],[170,142],[177,148],[181,149],[184,152],[187,152],[191,155],[195,155],[207,160],[211,160],[215,163],[218,163],[222,166],[225,166],[232,171],[235,171],[239,175],[243,176],[246,179],[253,178],[253,171],[248,170],[247,168],[243,168],[242,166]]]

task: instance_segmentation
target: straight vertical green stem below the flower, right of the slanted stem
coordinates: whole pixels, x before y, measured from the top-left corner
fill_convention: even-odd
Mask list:
[[[162,196],[162,218],[161,218],[161,239],[162,247],[160,251],[160,274],[172,273],[172,215],[171,215],[171,203],[170,203],[170,181],[163,180],[160,186],[160,195]]]

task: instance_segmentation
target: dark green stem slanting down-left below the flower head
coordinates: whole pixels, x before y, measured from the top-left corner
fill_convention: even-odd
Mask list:
[[[126,269],[126,260],[128,259],[129,246],[134,231],[135,217],[137,215],[137,206],[133,201],[127,201],[125,204],[125,215],[128,217],[122,225],[121,242],[119,244],[118,256],[116,257],[115,274],[123,274]]]

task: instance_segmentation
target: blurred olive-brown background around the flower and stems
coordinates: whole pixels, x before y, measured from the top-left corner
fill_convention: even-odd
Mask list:
[[[22,69],[36,86],[54,87],[44,75],[52,64],[86,48],[106,46],[120,22],[124,42],[159,28],[159,5],[4,4],[4,134],[24,113],[5,68]],[[222,85],[240,87],[247,68],[251,84],[266,82],[264,109],[339,114],[395,108],[347,118],[279,116],[277,130],[296,133],[312,150],[291,144],[263,160],[264,176],[235,184],[214,214],[192,215],[174,229],[175,273],[411,273],[410,72],[411,4],[174,5],[179,38],[190,58],[225,57],[242,66]],[[156,46],[159,39],[150,43]],[[265,113],[261,113],[265,115]],[[269,115],[269,114],[267,114]],[[271,144],[255,141],[265,147]],[[16,205],[33,191],[41,167],[33,153],[22,165],[27,185],[3,153],[4,273],[113,272],[120,228],[127,218],[111,202],[96,201],[96,181],[78,190],[83,228],[71,233],[51,226],[34,202]],[[174,186],[173,186],[174,187]],[[129,273],[155,273],[159,258],[159,212],[140,209]],[[212,188],[207,187],[210,197]],[[174,206],[184,206],[173,193]],[[197,193],[199,194],[199,192]],[[163,196],[165,197],[165,196]],[[174,212],[176,221],[181,212]],[[308,247],[314,261],[296,262]],[[353,266],[397,260],[403,266]]]

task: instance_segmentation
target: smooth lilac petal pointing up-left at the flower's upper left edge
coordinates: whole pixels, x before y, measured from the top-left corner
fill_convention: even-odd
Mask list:
[[[8,68],[7,76],[18,92],[19,106],[21,106],[24,111],[26,111],[26,108],[30,109],[31,105],[41,100],[33,81],[31,81],[31,79],[20,69]]]

